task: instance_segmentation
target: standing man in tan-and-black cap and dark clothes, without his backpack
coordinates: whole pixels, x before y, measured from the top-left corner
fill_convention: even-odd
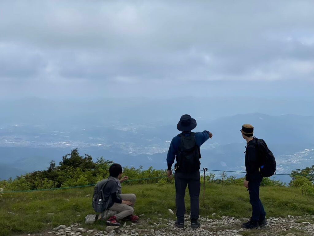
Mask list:
[[[245,167],[246,177],[244,181],[244,187],[247,188],[250,195],[250,203],[252,205],[252,217],[251,219],[242,224],[243,228],[258,228],[267,225],[265,220],[265,211],[261,200],[259,199],[259,186],[263,180],[263,177],[259,171],[258,156],[256,150],[256,139],[253,138],[254,128],[250,124],[242,126],[242,137],[246,140],[245,151]]]

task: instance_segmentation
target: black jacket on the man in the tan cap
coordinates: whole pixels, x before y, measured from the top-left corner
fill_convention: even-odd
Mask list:
[[[261,181],[261,173],[259,172],[259,163],[256,151],[256,140],[253,139],[246,145],[245,151],[245,168],[247,181]]]

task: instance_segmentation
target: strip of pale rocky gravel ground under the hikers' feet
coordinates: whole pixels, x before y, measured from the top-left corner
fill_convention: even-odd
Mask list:
[[[186,216],[188,217],[188,216]],[[71,226],[60,225],[50,232],[39,234],[28,234],[28,236],[163,236],[163,235],[225,235],[225,236],[314,236],[314,216],[288,216],[287,218],[267,219],[268,225],[263,228],[247,230],[241,228],[241,222],[247,219],[235,219],[222,216],[219,219],[208,219],[201,217],[201,227],[192,229],[188,218],[185,227],[175,228],[173,220],[159,218],[158,222],[145,219],[134,224],[124,223],[120,228],[107,226],[103,231],[81,228],[79,224]]]

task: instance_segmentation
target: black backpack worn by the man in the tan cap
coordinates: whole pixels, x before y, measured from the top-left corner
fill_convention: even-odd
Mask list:
[[[276,174],[276,160],[271,150],[263,139],[254,137],[256,141],[256,151],[258,155],[258,163],[260,166],[261,175],[270,177]]]

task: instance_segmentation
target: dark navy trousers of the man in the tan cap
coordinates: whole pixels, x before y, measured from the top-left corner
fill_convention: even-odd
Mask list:
[[[261,185],[261,180],[249,181],[249,194],[250,203],[252,205],[252,221],[262,221],[265,219],[266,212],[264,211],[263,204],[259,199],[259,186]]]

